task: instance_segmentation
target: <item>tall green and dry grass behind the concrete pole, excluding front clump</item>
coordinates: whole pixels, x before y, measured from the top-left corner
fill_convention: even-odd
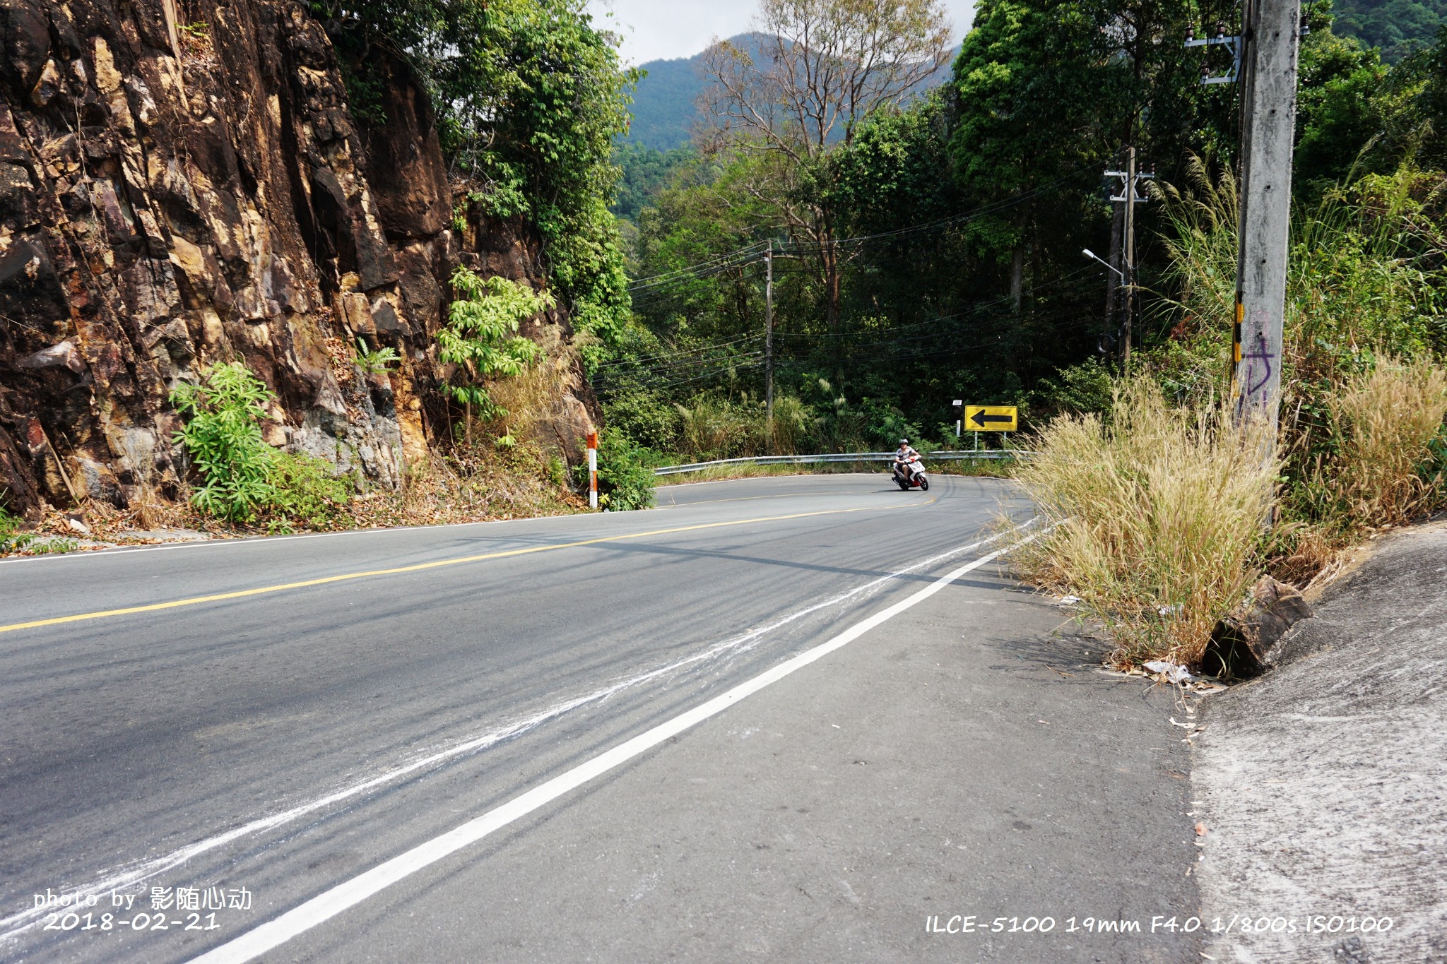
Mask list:
[[[1281,399],[1286,525],[1270,564],[1282,578],[1308,581],[1363,530],[1443,504],[1444,192],[1440,172],[1408,163],[1294,211]],[[1166,195],[1175,298],[1160,305],[1172,337],[1146,353],[1145,370],[1201,405],[1230,384],[1236,184],[1197,160],[1189,189]]]

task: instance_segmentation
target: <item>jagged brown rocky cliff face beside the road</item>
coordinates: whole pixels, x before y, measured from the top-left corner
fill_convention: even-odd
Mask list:
[[[544,279],[521,225],[472,212],[453,230],[407,68],[376,65],[392,82],[359,124],[300,3],[0,0],[0,36],[12,512],[175,494],[187,470],[166,396],[234,358],[279,399],[268,441],[394,484],[444,431],[433,335],[451,269]],[[566,341],[567,318],[530,334]],[[396,348],[399,370],[357,369],[359,337]],[[553,415],[564,445],[589,422],[572,396]]]

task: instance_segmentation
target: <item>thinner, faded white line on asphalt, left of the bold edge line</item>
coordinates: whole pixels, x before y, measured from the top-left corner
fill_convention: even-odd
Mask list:
[[[1030,520],[1030,522],[1027,522],[1024,525],[1032,525],[1032,522],[1033,520]],[[732,637],[725,639],[722,642],[713,643],[708,649],[696,652],[696,653],[693,653],[690,656],[684,656],[682,659],[673,660],[673,662],[666,663],[663,666],[657,666],[654,669],[650,669],[650,671],[645,671],[645,672],[641,672],[641,673],[637,673],[637,675],[632,675],[632,676],[625,676],[622,679],[616,679],[616,681],[614,681],[614,682],[611,682],[611,684],[608,684],[605,687],[601,687],[598,689],[593,689],[590,692],[586,692],[586,694],[582,694],[582,695],[577,695],[577,697],[572,697],[569,700],[563,700],[563,701],[560,701],[560,702],[557,702],[557,704],[554,704],[554,705],[551,705],[551,707],[548,707],[546,710],[540,710],[540,711],[532,713],[532,714],[530,714],[527,717],[521,717],[521,718],[517,718],[517,720],[514,720],[511,723],[505,723],[502,726],[496,726],[496,727],[488,730],[486,733],[480,733],[480,734],[478,734],[475,737],[469,737],[467,740],[463,740],[460,743],[454,743],[454,744],[449,744],[449,746],[443,746],[443,747],[434,747],[434,749],[430,749],[430,750],[424,750],[423,756],[420,756],[420,757],[417,757],[414,760],[405,762],[405,763],[402,763],[402,765],[399,765],[399,766],[396,766],[396,767],[394,767],[394,769],[391,769],[391,770],[388,770],[385,773],[381,773],[381,775],[373,776],[370,779],[366,779],[366,780],[360,780],[357,783],[352,783],[352,785],[339,788],[339,789],[336,789],[336,791],[333,791],[330,793],[326,793],[326,795],[323,795],[320,798],[311,799],[311,801],[308,801],[305,804],[300,804],[300,805],[292,806],[289,809],[285,809],[285,811],[282,811],[279,814],[271,814],[268,817],[260,817],[258,819],[253,819],[253,821],[249,821],[246,824],[242,824],[240,827],[229,830],[224,834],[217,834],[214,837],[208,837],[208,838],[197,841],[194,844],[188,844],[185,847],[179,847],[179,848],[177,848],[177,850],[174,850],[174,851],[171,851],[171,853],[168,853],[165,856],[161,856],[161,857],[155,857],[155,858],[150,858],[150,860],[146,860],[146,861],[142,861],[142,863],[136,863],[136,864],[120,866],[120,867],[110,867],[107,870],[101,870],[98,874],[96,874],[96,879],[93,880],[93,883],[87,883],[87,885],[84,885],[81,887],[77,887],[74,890],[67,889],[65,893],[74,893],[77,896],[90,896],[90,895],[106,896],[111,890],[120,890],[120,889],[133,886],[136,883],[140,883],[143,880],[149,880],[152,877],[156,877],[156,876],[159,876],[159,874],[162,874],[162,873],[165,873],[168,870],[179,867],[181,864],[192,860],[194,857],[200,857],[201,854],[205,854],[208,851],[217,850],[218,847],[224,847],[226,844],[230,844],[230,843],[233,843],[236,840],[240,840],[240,838],[245,838],[245,837],[250,837],[253,834],[260,834],[260,832],[265,832],[265,831],[269,831],[269,830],[275,830],[278,827],[291,824],[291,822],[294,822],[297,819],[301,819],[302,817],[305,817],[308,814],[314,814],[314,812],[321,811],[321,809],[324,809],[327,806],[331,806],[334,804],[341,804],[341,802],[346,802],[346,801],[349,801],[352,798],[365,795],[365,793],[368,793],[370,791],[381,789],[382,786],[386,786],[388,783],[394,783],[394,782],[396,782],[396,780],[399,780],[402,778],[420,773],[423,770],[434,769],[434,767],[441,766],[441,765],[444,765],[444,763],[447,763],[447,762],[450,762],[450,760],[453,760],[456,757],[466,756],[469,753],[476,753],[479,750],[486,750],[488,747],[495,746],[495,744],[498,744],[498,743],[501,743],[504,740],[509,740],[512,737],[517,737],[517,736],[521,736],[524,733],[528,733],[530,730],[534,730],[534,728],[543,726],[544,723],[550,723],[551,720],[556,720],[556,718],[559,718],[559,717],[561,717],[561,715],[564,715],[567,713],[572,713],[573,710],[577,710],[579,707],[585,707],[585,705],[602,702],[602,701],[608,700],[609,697],[612,697],[612,695],[615,695],[615,694],[618,694],[618,692],[621,692],[624,689],[629,689],[632,687],[642,685],[642,684],[650,682],[653,679],[657,679],[660,676],[666,676],[669,673],[679,672],[679,671],[686,669],[686,668],[689,668],[690,665],[695,665],[695,663],[708,662],[710,659],[716,659],[716,658],[726,656],[726,655],[738,655],[738,653],[742,653],[742,652],[748,652],[750,649],[752,649],[754,646],[757,646],[758,642],[764,636],[767,636],[768,633],[774,632],[776,629],[787,626],[789,623],[794,623],[794,621],[803,619],[805,616],[809,616],[812,613],[818,613],[819,610],[823,610],[823,608],[828,608],[831,606],[836,606],[839,603],[848,601],[848,600],[851,600],[851,598],[854,598],[857,595],[871,593],[871,591],[883,587],[886,582],[890,582],[891,580],[896,580],[896,578],[899,578],[901,575],[907,575],[907,574],[915,572],[917,569],[923,569],[923,568],[928,568],[930,565],[936,565],[939,562],[951,559],[951,558],[954,558],[956,555],[961,555],[964,552],[971,552],[974,549],[978,549],[980,546],[990,545],[991,542],[998,541],[1004,535],[1009,535],[1009,533],[997,533],[994,536],[990,536],[988,539],[981,539],[978,542],[972,542],[972,543],[965,545],[965,546],[958,546],[958,548],[949,549],[948,552],[942,552],[942,554],[933,555],[933,556],[930,556],[928,559],[922,559],[919,562],[910,564],[910,565],[907,565],[907,567],[904,567],[901,569],[896,569],[894,572],[890,572],[888,575],[883,575],[883,577],[880,577],[877,580],[871,580],[870,582],[865,582],[862,585],[857,585],[852,590],[848,590],[845,593],[839,593],[838,595],[832,595],[828,600],[823,600],[822,603],[815,603],[812,606],[806,606],[805,608],[796,610],[796,611],[793,611],[793,613],[790,613],[787,616],[780,617],[778,620],[776,620],[773,623],[768,623],[765,626],[758,626],[755,629],[751,629],[751,630],[739,634],[739,636],[732,636]],[[0,942],[13,941],[13,939],[19,938],[23,932],[26,932],[26,931],[29,931],[29,929],[32,929],[35,926],[39,926],[43,915],[45,915],[45,909],[43,908],[42,909],[27,908],[25,911],[20,911],[17,913],[13,913],[13,915],[10,915],[7,918],[0,919]]]

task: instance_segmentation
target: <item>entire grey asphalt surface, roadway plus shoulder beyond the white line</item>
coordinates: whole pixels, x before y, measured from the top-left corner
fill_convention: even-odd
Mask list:
[[[226,947],[906,600],[988,552],[977,543],[1003,516],[1026,519],[1029,507],[996,480],[939,477],[926,494],[900,493],[884,475],[765,478],[669,487],[660,509],[642,513],[0,562],[0,957],[184,961]],[[1051,857],[1059,841],[1042,841],[1014,866],[1017,854],[990,858],[987,845],[983,854],[994,863],[984,876],[977,867],[977,883],[1010,882],[1010,893],[1022,900],[1033,895],[1036,905],[1048,898],[1051,911],[1084,885],[1098,887],[1092,899],[1113,915],[1137,905],[1139,913],[1188,905],[1181,882],[1192,853],[1179,830],[1189,822],[1182,817],[1188,804],[1172,770],[1179,763],[1172,762],[1163,707],[1137,688],[1087,681],[1088,653],[1040,650],[1059,614],[1014,593],[997,572],[972,572],[949,591],[980,597],[958,619],[990,646],[1020,640],[1011,658],[1039,669],[1039,679],[1024,685],[1090,682],[1084,702],[1069,685],[1011,691],[1022,685],[1014,663],[1001,663],[1010,672],[997,673],[993,665],[961,663],[936,682],[936,692],[977,697],[932,713],[923,713],[925,704],[887,713],[915,702],[909,688],[928,681],[915,681],[900,665],[851,662],[854,656],[835,662],[831,655],[538,806],[485,845],[404,874],[352,911],[302,928],[262,960],[777,954],[793,947],[764,937],[780,926],[767,919],[778,900],[732,913],[726,947],[690,942],[686,931],[699,937],[696,922],[664,926],[657,916],[708,916],[702,900],[754,906],[767,892],[760,880],[731,876],[721,870],[725,864],[712,872],[700,864],[692,885],[667,889],[669,909],[642,911],[647,902],[635,900],[628,906],[642,916],[629,918],[602,896],[616,883],[608,874],[616,860],[637,861],[664,837],[687,840],[670,821],[706,825],[702,837],[715,848],[751,847],[747,838],[757,834],[748,808],[729,796],[750,778],[729,776],[738,759],[737,741],[726,739],[745,711],[767,717],[760,726],[780,733],[780,750],[805,754],[765,782],[793,798],[809,767],[818,769],[807,760],[822,752],[819,740],[838,737],[833,730],[873,713],[875,740],[897,743],[900,727],[928,737],[925,728],[946,718],[941,713],[968,715],[980,697],[991,705],[1024,698],[1029,705],[1011,720],[1040,715],[1042,700],[1077,701],[1074,713],[1111,721],[1113,739],[1124,739],[1127,749],[1103,744],[1088,726],[1064,717],[1059,724],[1071,727],[1074,741],[1042,737],[1049,723],[1033,720],[1019,734],[1019,721],[1009,731],[981,731],[993,746],[978,775],[981,799],[1011,812],[1033,806],[1014,799],[1016,791],[1029,796],[1023,786],[1000,788],[1036,770],[1051,782],[1049,792],[1039,783],[1036,793],[1046,819],[1062,809],[1052,802],[1061,788],[1085,798],[1071,804],[1072,819],[1084,824],[1066,834],[1078,853]],[[1014,594],[1010,613],[990,608],[1003,591]],[[942,614],[917,642],[948,640],[939,659],[954,660],[961,650],[955,610],[942,608],[943,593],[916,617],[925,606]],[[865,639],[894,639],[894,632],[890,623]],[[891,687],[890,700],[861,705]],[[832,700],[828,715],[841,723],[790,739],[784,721],[803,718],[810,700]],[[1108,707],[1104,717],[1100,702]],[[941,739],[958,744],[961,733]],[[1023,766],[1022,754],[1030,753],[1039,756],[1036,766]],[[1134,756],[1114,759],[1121,753]],[[1071,767],[1085,776],[1061,782],[1059,770]],[[897,779],[925,778],[907,772]],[[700,793],[705,785],[709,792]],[[964,805],[951,799],[949,785],[928,793],[943,814]],[[920,786],[909,795],[923,792]],[[828,788],[809,792],[829,798]],[[1120,805],[1142,811],[1129,827],[1110,814]],[[819,840],[874,832],[865,824],[851,830],[854,819],[865,817],[832,812],[818,818],[813,832]],[[609,828],[603,856],[560,857],[576,838],[566,844],[550,834],[566,837],[567,821]],[[1136,845],[1142,828],[1147,843]],[[1113,834],[1124,835],[1111,843]],[[1165,845],[1162,834],[1182,840]],[[680,847],[684,853],[674,857],[684,863],[708,850],[702,843]],[[954,847],[951,860],[972,857]],[[1162,848],[1171,854],[1165,860]],[[752,860],[767,870],[771,864],[758,853]],[[907,879],[891,853],[867,848],[854,863]],[[1065,870],[1042,876],[1032,861]],[[596,879],[605,870],[606,880]],[[84,906],[62,903],[78,893]],[[569,893],[566,919],[537,921],[540,909]],[[153,908],[153,898],[164,906]],[[467,912],[437,916],[441,908]],[[831,913],[857,928],[849,908],[858,909],[845,900]],[[915,935],[925,911],[910,913]],[[826,919],[799,934],[813,934]],[[900,924],[838,948],[810,938],[789,957],[805,960],[810,954],[803,948],[813,948],[818,960],[899,960],[909,947],[928,955],[929,948],[891,942],[893,926]],[[534,938],[557,931],[560,939],[524,939],[518,928]],[[758,935],[754,944],[750,932]],[[579,944],[579,934],[596,939]],[[1077,951],[1062,950],[1069,947],[1087,954],[1079,960],[1145,960],[1142,948],[1150,960],[1197,960],[1189,942],[1111,941],[1061,944],[1043,955],[1036,955],[1040,947],[991,944],[996,950],[984,957],[1072,960]],[[946,947],[936,944],[933,952],[962,960]]]

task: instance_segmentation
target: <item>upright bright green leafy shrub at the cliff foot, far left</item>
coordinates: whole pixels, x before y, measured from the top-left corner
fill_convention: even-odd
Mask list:
[[[275,496],[271,471],[276,449],[262,438],[266,384],[240,361],[213,364],[200,384],[179,384],[171,403],[187,425],[175,434],[204,484],[191,502],[227,522],[252,522]]]

